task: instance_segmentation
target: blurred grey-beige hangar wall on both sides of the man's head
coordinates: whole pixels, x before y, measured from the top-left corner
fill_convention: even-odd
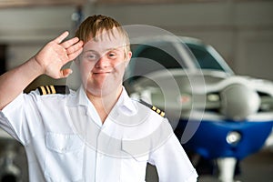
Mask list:
[[[85,15],[111,15],[123,25],[155,25],[194,36],[217,48],[239,75],[273,80],[273,2],[208,1],[169,5],[96,5]],[[72,30],[76,7],[0,10],[0,43],[8,45],[7,68],[28,57],[63,30]]]

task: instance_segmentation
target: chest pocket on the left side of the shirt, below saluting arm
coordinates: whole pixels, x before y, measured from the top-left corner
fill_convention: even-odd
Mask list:
[[[84,142],[77,135],[47,133],[45,136],[47,181],[82,181]]]

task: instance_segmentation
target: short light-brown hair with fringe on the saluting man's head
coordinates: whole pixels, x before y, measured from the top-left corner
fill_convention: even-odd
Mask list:
[[[114,28],[125,38],[126,53],[128,53],[128,51],[130,51],[130,41],[126,30],[115,19],[106,15],[92,15],[87,17],[76,30],[76,37],[86,43],[91,38],[96,38],[96,35],[103,30],[109,31],[109,34],[114,35]]]

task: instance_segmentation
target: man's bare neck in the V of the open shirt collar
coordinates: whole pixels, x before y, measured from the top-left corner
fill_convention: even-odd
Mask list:
[[[104,96],[95,96],[91,93],[86,93],[90,102],[95,106],[96,112],[100,116],[102,123],[105,122],[106,117],[109,115],[113,107],[116,105],[116,102],[119,96],[122,93],[122,86],[118,87],[116,91],[112,91]]]

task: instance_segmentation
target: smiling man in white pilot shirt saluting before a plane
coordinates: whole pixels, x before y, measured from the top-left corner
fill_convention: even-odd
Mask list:
[[[197,181],[167,118],[130,99],[122,79],[132,56],[126,31],[113,18],[88,17],[76,38],[67,32],[0,77],[0,124],[21,142],[30,181],[145,181],[147,162],[160,181]],[[35,77],[63,78],[75,60],[82,86],[70,94]],[[160,114],[161,112],[159,112]]]

